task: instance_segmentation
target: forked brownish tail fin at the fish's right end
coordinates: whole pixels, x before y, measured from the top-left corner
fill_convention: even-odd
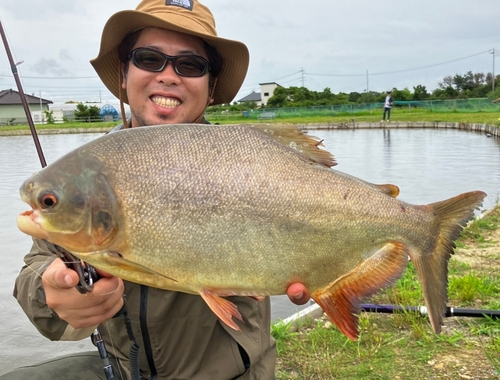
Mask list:
[[[410,258],[417,271],[424,294],[429,320],[436,334],[441,332],[446,312],[448,261],[455,248],[454,241],[468,221],[474,218],[474,210],[483,203],[486,194],[471,191],[428,206],[440,221],[440,230],[432,253],[414,254]]]

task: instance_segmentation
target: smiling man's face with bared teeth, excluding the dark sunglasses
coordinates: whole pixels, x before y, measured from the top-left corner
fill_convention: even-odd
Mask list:
[[[170,56],[194,54],[207,59],[203,40],[160,28],[145,28],[133,49],[147,47]],[[209,104],[209,75],[180,76],[172,62],[161,72],[151,72],[128,63],[123,89],[127,92],[132,127],[193,123]]]

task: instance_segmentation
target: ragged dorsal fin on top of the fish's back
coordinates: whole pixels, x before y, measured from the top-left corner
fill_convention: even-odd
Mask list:
[[[306,132],[294,125],[252,125],[252,128],[271,136],[276,141],[293,148],[312,161],[331,168],[337,165],[335,157],[327,150],[320,149],[323,140],[309,136]]]

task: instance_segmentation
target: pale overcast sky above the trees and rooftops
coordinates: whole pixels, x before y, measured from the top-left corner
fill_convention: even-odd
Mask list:
[[[218,34],[244,42],[250,67],[238,100],[259,83],[333,93],[500,74],[500,1],[205,0]],[[89,60],[113,13],[138,0],[3,0],[0,20],[26,93],[54,102],[115,102]],[[0,89],[17,89],[3,45]],[[368,75],[367,75],[368,73]]]

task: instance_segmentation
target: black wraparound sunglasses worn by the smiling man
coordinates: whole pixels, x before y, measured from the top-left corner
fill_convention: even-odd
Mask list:
[[[210,71],[210,63],[199,55],[170,56],[149,48],[132,50],[128,60],[140,69],[154,72],[163,71],[172,62],[175,72],[184,77],[202,77]]]

